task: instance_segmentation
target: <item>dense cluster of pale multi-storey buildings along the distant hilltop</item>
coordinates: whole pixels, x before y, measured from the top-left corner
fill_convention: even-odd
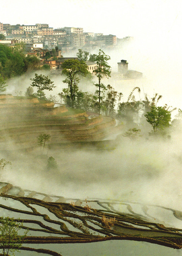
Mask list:
[[[131,37],[117,39],[116,36],[102,33],[84,32],[83,28],[63,27],[54,29],[49,24],[35,25],[10,25],[0,23],[0,34],[3,34],[6,41],[39,44],[44,49],[54,49],[58,47],[62,52],[72,49],[106,47],[112,48],[123,42],[127,42]]]

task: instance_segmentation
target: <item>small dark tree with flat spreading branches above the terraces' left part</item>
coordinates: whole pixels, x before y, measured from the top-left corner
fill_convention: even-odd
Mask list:
[[[52,91],[54,87],[54,82],[51,81],[48,76],[45,76],[45,75],[38,75],[35,73],[35,77],[34,78],[30,78],[30,80],[32,80],[32,84],[31,86],[36,86],[38,88],[37,92],[39,93],[40,95],[40,98],[41,98],[41,95],[43,94],[43,90],[49,90],[49,91]]]

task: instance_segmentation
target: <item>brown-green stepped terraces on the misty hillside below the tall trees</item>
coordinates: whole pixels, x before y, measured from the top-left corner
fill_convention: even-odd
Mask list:
[[[35,102],[36,101],[36,102]],[[6,148],[30,148],[40,134],[49,134],[49,145],[61,142],[102,140],[115,126],[115,119],[52,102],[0,99],[0,143]]]

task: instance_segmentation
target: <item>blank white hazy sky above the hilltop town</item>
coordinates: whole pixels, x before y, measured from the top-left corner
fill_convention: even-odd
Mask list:
[[[0,22],[83,27],[85,32],[125,36],[179,33],[181,0],[0,0]]]

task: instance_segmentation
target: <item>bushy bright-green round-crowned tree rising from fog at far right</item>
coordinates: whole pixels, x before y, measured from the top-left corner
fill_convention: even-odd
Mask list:
[[[153,133],[156,134],[157,129],[163,129],[170,126],[171,112],[166,110],[165,107],[152,106],[150,112],[144,115],[152,125]]]

